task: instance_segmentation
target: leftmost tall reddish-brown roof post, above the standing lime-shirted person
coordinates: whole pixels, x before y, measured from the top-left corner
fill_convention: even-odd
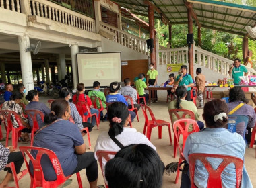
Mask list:
[[[148,6],[148,25],[150,28],[150,38],[153,38],[154,48],[150,50],[150,61],[156,68],[156,39],[155,39],[155,21],[154,21],[154,7]]]

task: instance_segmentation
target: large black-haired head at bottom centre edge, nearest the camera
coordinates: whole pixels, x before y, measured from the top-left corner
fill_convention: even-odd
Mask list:
[[[162,186],[164,165],[155,150],[145,144],[131,144],[106,163],[109,188]]]

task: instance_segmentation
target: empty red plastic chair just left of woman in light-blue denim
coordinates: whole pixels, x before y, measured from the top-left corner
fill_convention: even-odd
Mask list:
[[[185,124],[185,127],[183,126]],[[189,126],[192,125],[193,130],[191,132],[189,132]],[[180,152],[180,157],[179,157],[179,163],[178,163],[178,167],[179,164],[181,164],[181,162],[183,160],[185,160],[184,156],[183,156],[183,150],[185,147],[185,143],[187,140],[187,136],[189,136],[189,134],[193,133],[193,132],[199,132],[199,126],[197,125],[197,122],[195,120],[191,120],[191,119],[180,119],[174,122],[173,124],[173,130],[177,130],[174,131],[174,139],[177,141],[178,143],[178,147],[179,147],[179,152]],[[183,135],[183,146],[182,148],[179,145],[179,136]],[[177,174],[176,174],[176,179],[175,179],[175,183],[178,183],[179,180],[179,168],[177,169]]]

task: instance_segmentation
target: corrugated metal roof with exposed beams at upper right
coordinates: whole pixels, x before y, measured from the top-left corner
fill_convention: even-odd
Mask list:
[[[148,16],[148,5],[143,0],[113,0],[121,7],[130,9],[137,15]],[[152,0],[150,1],[166,17],[171,24],[187,23],[187,7],[183,0]],[[202,27],[238,35],[246,34],[245,26],[255,26],[256,7],[236,5],[212,0],[187,0],[192,3],[193,11]],[[154,13],[161,19],[160,13]]]

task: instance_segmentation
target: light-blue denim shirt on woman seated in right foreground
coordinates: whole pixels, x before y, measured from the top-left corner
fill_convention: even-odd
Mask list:
[[[224,154],[243,159],[245,154],[245,141],[239,134],[231,133],[225,128],[205,128],[201,132],[195,132],[187,137],[184,156],[189,163],[189,154]],[[208,161],[214,169],[218,167],[221,159],[209,158]],[[236,170],[234,164],[228,164],[222,172],[222,187],[236,187]],[[194,183],[197,187],[207,187],[208,173],[203,164],[197,160],[195,163]],[[241,188],[253,188],[249,175],[243,165]]]

